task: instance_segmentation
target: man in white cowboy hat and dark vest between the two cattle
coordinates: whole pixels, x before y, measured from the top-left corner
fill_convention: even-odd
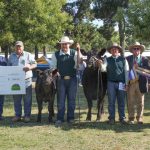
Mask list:
[[[52,55],[52,68],[58,69],[60,79],[57,86],[57,121],[56,126],[64,122],[65,99],[67,97],[67,122],[74,121],[75,99],[77,92],[76,68],[80,61],[80,45],[77,44],[77,51],[70,49],[73,40],[64,36],[59,42],[61,49]]]

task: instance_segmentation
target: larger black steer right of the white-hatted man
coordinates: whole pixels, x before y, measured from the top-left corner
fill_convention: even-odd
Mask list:
[[[90,56],[87,60],[87,67],[83,72],[82,84],[85,97],[88,103],[88,113],[86,120],[91,121],[92,100],[97,100],[97,120],[101,119],[103,113],[104,96],[107,89],[106,72],[101,72],[97,66],[97,59],[104,54],[106,50],[102,49],[96,56]],[[92,53],[91,53],[92,54]]]

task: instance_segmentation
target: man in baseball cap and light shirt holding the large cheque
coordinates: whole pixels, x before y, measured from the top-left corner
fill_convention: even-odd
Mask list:
[[[9,66],[22,66],[25,71],[25,95],[13,95],[15,117],[12,121],[20,121],[22,117],[22,99],[24,100],[24,122],[29,122],[31,117],[32,106],[32,70],[36,68],[37,63],[31,53],[24,51],[22,41],[17,41],[15,44],[15,52],[8,59]]]

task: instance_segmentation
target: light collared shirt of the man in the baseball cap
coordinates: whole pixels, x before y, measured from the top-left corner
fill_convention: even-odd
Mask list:
[[[31,55],[31,53],[23,51],[21,56],[18,56],[16,52],[12,53],[8,59],[8,66],[21,66],[22,68],[25,67],[27,64],[36,64],[36,61],[34,57]],[[27,85],[31,84],[31,79],[33,74],[32,70],[29,70],[25,73],[25,80],[26,82],[26,87]]]

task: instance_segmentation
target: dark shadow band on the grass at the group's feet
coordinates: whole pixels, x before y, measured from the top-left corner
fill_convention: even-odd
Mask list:
[[[83,112],[84,114],[84,112]],[[76,114],[77,116],[77,114]],[[12,122],[13,116],[5,117],[3,121],[0,122],[0,127],[10,127],[10,128],[23,128],[23,127],[35,127],[35,126],[55,126],[54,123],[49,124],[48,123],[48,114],[43,113],[42,115],[42,121],[41,123],[36,122],[37,115],[33,114],[31,118],[31,122],[24,123],[21,122]],[[77,118],[78,119],[78,118]],[[54,118],[55,121],[55,118]],[[63,131],[70,131],[70,130],[81,130],[81,129],[93,129],[93,130],[111,130],[115,131],[116,133],[122,133],[122,132],[143,132],[144,129],[150,129],[150,123],[145,123],[143,125],[122,125],[119,122],[116,122],[114,125],[109,125],[106,121],[105,122],[87,122],[87,121],[81,121],[75,120],[74,124],[68,124],[64,122],[60,127]]]

